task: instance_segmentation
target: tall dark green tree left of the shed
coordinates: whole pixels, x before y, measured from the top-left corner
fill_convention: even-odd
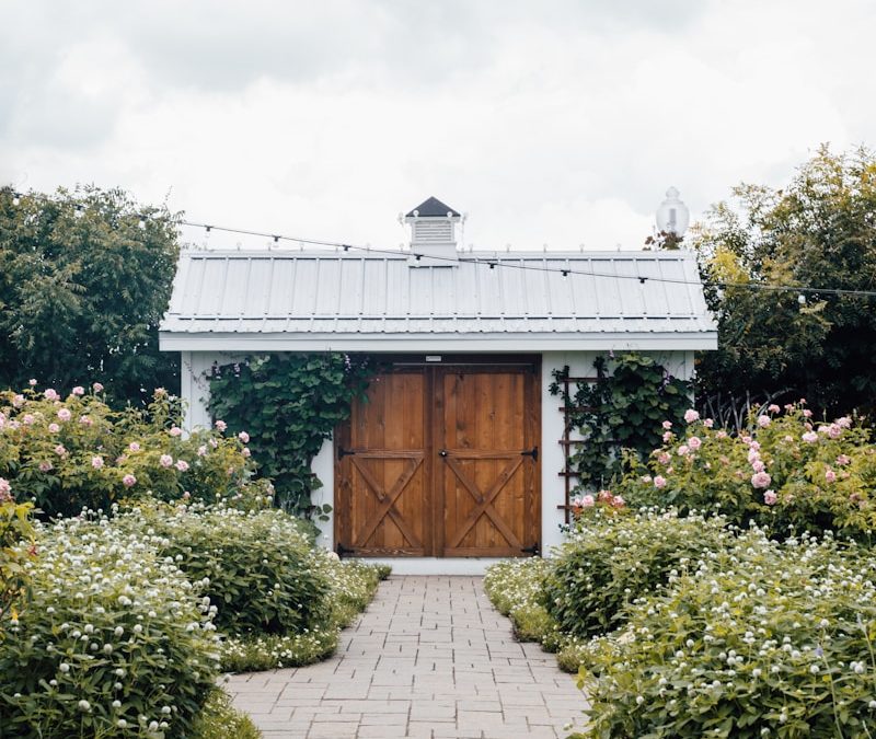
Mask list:
[[[0,388],[99,381],[116,403],[178,391],[159,353],[178,245],[166,208],[85,187],[0,189]]]

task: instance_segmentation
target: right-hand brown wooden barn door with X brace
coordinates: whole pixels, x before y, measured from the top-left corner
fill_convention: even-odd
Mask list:
[[[436,484],[442,556],[523,556],[540,544],[539,395],[530,368],[441,368]]]

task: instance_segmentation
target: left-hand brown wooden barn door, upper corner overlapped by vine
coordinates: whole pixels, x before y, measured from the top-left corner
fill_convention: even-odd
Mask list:
[[[433,550],[428,374],[381,374],[338,431],[335,538],[341,554],[424,556]]]

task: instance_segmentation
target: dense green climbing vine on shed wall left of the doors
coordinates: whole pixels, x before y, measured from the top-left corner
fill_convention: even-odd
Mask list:
[[[209,408],[235,434],[245,431],[261,475],[277,505],[299,516],[324,516],[310,494],[322,486],[311,462],[350,406],[364,397],[372,365],[362,357],[273,354],[214,366]]]

